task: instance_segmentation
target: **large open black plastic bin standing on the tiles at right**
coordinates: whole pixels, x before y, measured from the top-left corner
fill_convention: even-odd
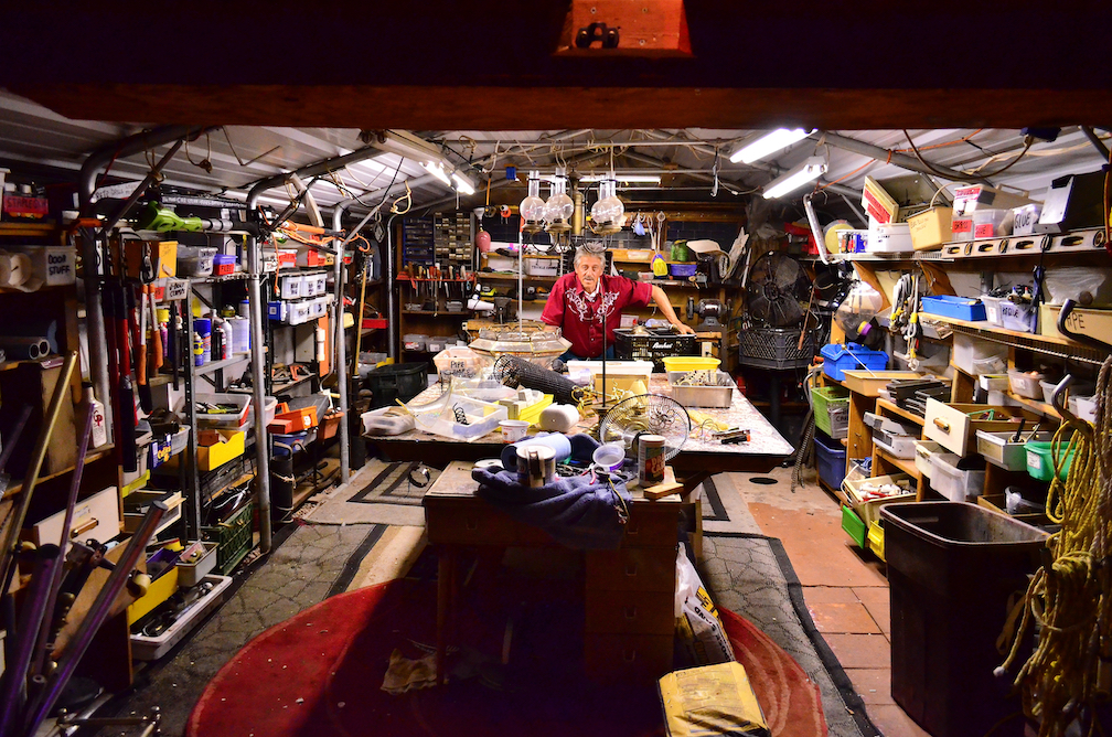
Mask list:
[[[1009,698],[1015,674],[993,676],[1006,655],[996,638],[1009,599],[1026,591],[1039,567],[1046,534],[966,502],[892,504],[881,507],[881,517],[892,698],[933,737],[983,737],[1020,709],[1019,699]],[[1022,735],[1023,719],[993,734]]]

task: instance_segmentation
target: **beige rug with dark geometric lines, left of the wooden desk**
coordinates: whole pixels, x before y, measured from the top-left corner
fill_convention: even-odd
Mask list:
[[[347,484],[329,491],[324,504],[306,519],[314,525],[424,526],[421,499],[440,471],[425,466],[429,480],[418,486],[410,479],[410,471],[420,465],[369,460]]]

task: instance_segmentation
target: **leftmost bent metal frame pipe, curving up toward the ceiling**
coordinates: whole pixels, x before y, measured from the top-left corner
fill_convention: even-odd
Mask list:
[[[125,139],[100,147],[89,155],[78,173],[78,203],[82,217],[92,216],[92,195],[97,176],[109,163],[119,158],[142,153],[171,141],[200,136],[207,130],[197,126],[163,126],[136,133]],[[111,402],[108,401],[108,340],[105,337],[105,313],[100,299],[99,253],[91,238],[82,239],[81,261],[85,263],[86,326],[89,336],[89,376],[97,396],[105,404],[106,426],[112,428]],[[111,434],[115,436],[115,434]]]

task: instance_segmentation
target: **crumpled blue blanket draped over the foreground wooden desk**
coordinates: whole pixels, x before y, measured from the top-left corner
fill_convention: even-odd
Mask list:
[[[573,444],[573,458],[586,454],[589,459],[593,451],[587,444]],[[530,488],[519,481],[516,469],[492,474],[483,468],[471,470],[471,478],[479,482],[479,497],[566,547],[613,549],[625,534],[629,491],[620,480],[612,486],[605,476],[557,476],[552,484]]]

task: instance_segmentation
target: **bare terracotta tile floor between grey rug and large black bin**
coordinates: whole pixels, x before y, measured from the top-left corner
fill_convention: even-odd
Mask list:
[[[765,535],[780,538],[803,584],[811,617],[845,668],[873,724],[885,737],[924,737],[892,700],[892,624],[884,565],[842,530],[837,501],[814,484],[788,490],[744,485]]]

